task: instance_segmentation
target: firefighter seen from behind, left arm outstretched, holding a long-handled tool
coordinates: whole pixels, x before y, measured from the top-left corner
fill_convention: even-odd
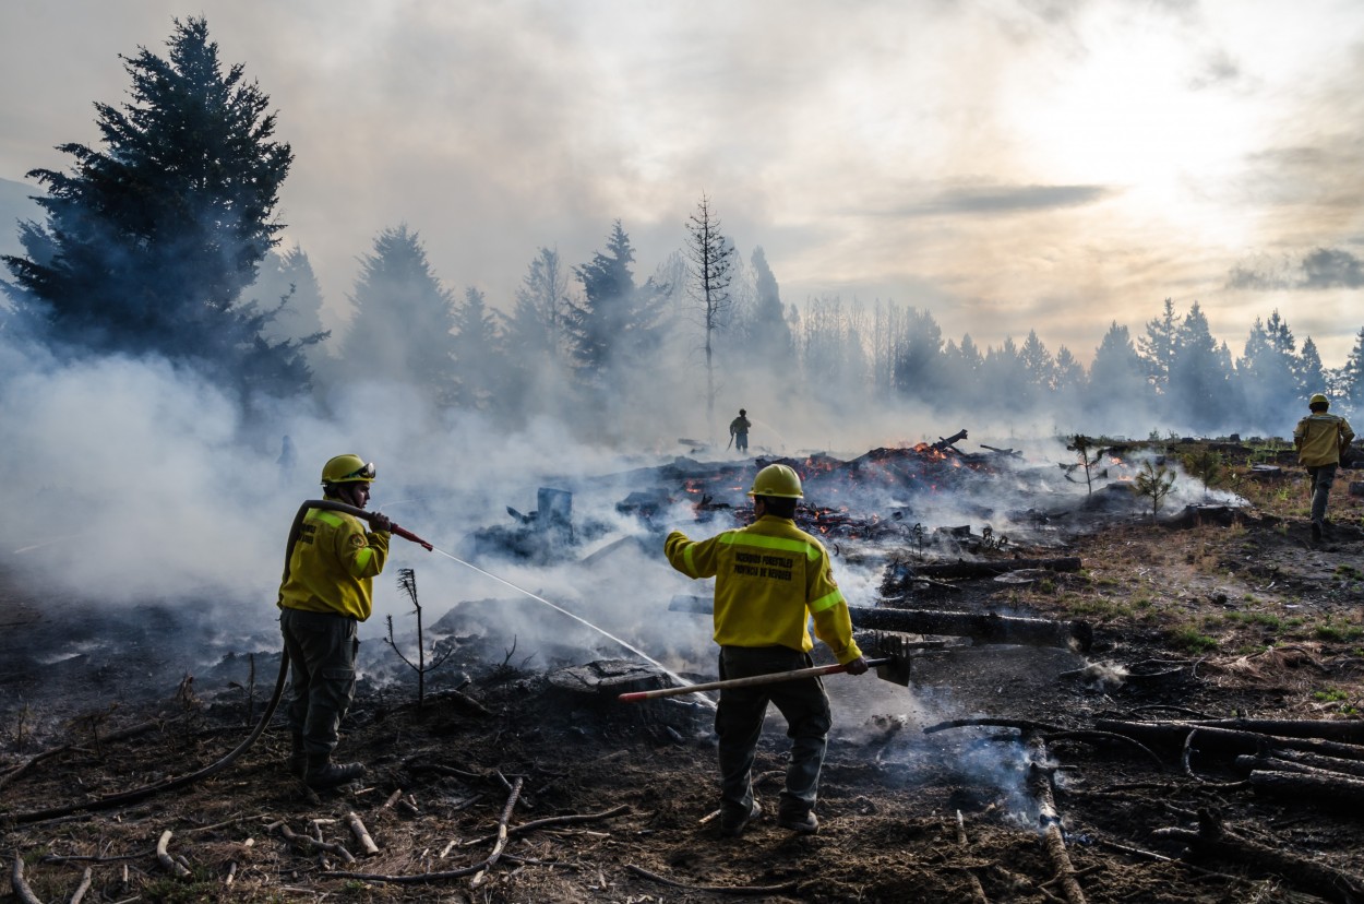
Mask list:
[[[674,568],[689,578],[715,578],[715,642],[720,679],[790,672],[813,665],[807,621],[848,675],[868,670],[853,640],[847,601],[833,580],[829,554],[795,526],[799,475],[784,464],[758,471],[749,496],[754,522],[694,542],[681,531],[664,541]],[[761,815],[752,770],[768,702],[787,722],[791,762],[777,806],[777,825],[813,834],[814,802],[832,725],[829,698],[817,676],[724,688],[715,713],[720,759],[720,834],[735,837]]]

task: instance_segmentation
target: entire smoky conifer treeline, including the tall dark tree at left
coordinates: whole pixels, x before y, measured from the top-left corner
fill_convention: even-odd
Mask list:
[[[382,228],[333,336],[307,254],[278,247],[293,152],[274,141],[269,97],[222,64],[203,19],[176,20],[168,51],[123,57],[130,100],[95,105],[98,146],[61,145],[68,171],[29,173],[46,194],[42,221],[19,224],[23,253],[4,257],[7,341],[59,359],[161,356],[247,407],[326,408],[348,384],[387,381],[499,427],[559,416],[606,438],[660,407],[704,406],[713,426],[732,416],[720,400],[756,385],[769,406],[968,411],[1090,434],[1284,434],[1322,391],[1333,411],[1364,412],[1364,324],[1339,367],[1277,310],[1233,351],[1198,302],[1170,299],[1135,335],[1113,322],[1088,367],[1035,332],[982,348],[913,306],[787,303],[762,249],[741,255],[707,197],[647,277],[615,221],[587,261],[536,249],[496,303],[447,288],[416,231]]]

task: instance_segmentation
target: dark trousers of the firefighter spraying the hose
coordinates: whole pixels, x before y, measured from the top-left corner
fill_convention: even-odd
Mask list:
[[[360,651],[351,616],[280,610],[289,654],[289,731],[303,735],[310,754],[336,750],[341,720],[355,701],[355,657]]]

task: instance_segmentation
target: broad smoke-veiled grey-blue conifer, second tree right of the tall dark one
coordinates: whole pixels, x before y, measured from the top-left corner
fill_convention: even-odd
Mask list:
[[[406,225],[379,232],[374,253],[360,261],[351,303],[342,356],[353,376],[411,384],[436,404],[456,403],[453,299],[416,232]]]

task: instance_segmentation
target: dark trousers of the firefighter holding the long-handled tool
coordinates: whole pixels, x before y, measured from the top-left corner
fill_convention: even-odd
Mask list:
[[[783,646],[720,647],[722,679],[791,672],[813,664],[807,654]],[[715,710],[715,733],[720,739],[720,808],[738,815],[747,814],[753,804],[753,757],[768,703],[786,718],[786,735],[791,739],[791,762],[779,815],[801,818],[814,808],[833,724],[829,698],[818,677],[720,691]]]

